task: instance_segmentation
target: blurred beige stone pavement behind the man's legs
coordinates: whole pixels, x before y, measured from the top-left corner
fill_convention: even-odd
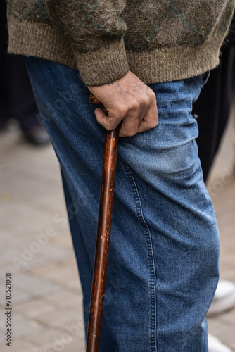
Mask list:
[[[234,130],[231,121],[208,189],[221,232],[221,277],[235,282]],[[0,134],[0,153],[0,350],[82,352],[82,294],[56,156],[51,146],[28,146],[12,127]],[[6,272],[12,280],[11,348],[4,342]],[[235,309],[208,325],[235,351]]]

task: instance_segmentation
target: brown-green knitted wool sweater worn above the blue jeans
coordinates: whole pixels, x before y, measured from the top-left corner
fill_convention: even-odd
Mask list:
[[[8,51],[57,61],[87,85],[145,83],[219,63],[235,0],[8,0]]]

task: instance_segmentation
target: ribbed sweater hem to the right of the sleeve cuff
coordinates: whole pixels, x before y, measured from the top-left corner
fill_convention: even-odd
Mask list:
[[[127,53],[129,69],[146,84],[184,80],[220,64],[222,38],[198,46],[174,46],[151,52]]]

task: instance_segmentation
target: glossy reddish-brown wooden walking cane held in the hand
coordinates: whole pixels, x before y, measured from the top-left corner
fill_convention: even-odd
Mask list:
[[[92,103],[99,103],[92,94],[90,94],[89,100]],[[118,134],[119,126],[113,131],[106,130],[86,352],[99,352],[101,339],[101,321],[106,290],[108,249],[113,210],[115,170],[118,154]]]

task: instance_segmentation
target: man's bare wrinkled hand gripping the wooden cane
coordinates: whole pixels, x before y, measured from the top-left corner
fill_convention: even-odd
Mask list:
[[[155,94],[134,73],[111,84],[89,86],[88,89],[106,108],[96,108],[96,120],[106,128],[114,130],[120,125],[120,137],[134,136],[158,125],[158,109]]]

